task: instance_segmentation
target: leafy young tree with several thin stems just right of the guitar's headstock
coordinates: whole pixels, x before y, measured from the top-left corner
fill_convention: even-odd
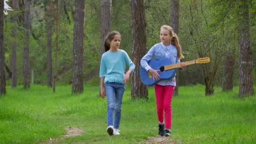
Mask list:
[[[219,31],[209,24],[213,20],[208,7],[212,7],[207,1],[190,0],[182,3],[185,9],[189,11],[180,11],[181,16],[186,24],[183,26],[184,39],[186,43],[187,57],[195,59],[197,57],[210,57],[211,62],[202,64],[202,70],[197,71],[203,75],[205,81],[205,96],[211,96],[214,93],[214,85],[216,84],[216,74],[223,59],[224,47],[221,40],[223,35],[219,35]],[[195,74],[196,75],[196,74]],[[201,76],[200,76],[201,77]]]

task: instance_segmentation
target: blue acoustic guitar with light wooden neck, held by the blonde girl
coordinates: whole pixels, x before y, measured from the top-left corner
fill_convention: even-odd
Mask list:
[[[195,59],[192,61],[185,61],[184,63],[186,65],[190,64],[203,64],[203,63],[208,63],[210,62],[210,58],[201,58],[201,59]],[[171,59],[164,58],[160,60],[155,60],[152,59],[148,61],[149,66],[152,69],[159,69],[160,71],[158,72],[160,75],[160,80],[170,80],[173,77],[175,77],[175,69],[180,67],[181,64],[173,64]],[[160,80],[153,80],[153,77],[150,72],[146,71],[143,67],[139,67],[139,75],[141,78],[141,82],[144,83],[147,86],[152,86],[157,84]]]

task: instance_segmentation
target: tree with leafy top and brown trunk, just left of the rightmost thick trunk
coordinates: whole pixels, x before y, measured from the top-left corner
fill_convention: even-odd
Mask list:
[[[234,44],[234,41],[237,40],[237,33],[234,32],[237,29],[235,23],[237,16],[234,15],[235,1],[214,0],[211,5],[213,5],[214,17],[212,25],[216,29],[215,31],[219,29],[221,40],[223,40],[222,45],[226,48],[222,72],[222,91],[229,91],[233,89],[235,53],[237,50],[237,45]]]

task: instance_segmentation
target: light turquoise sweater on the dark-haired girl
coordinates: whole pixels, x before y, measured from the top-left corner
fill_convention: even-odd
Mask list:
[[[101,57],[99,77],[104,77],[104,83],[124,83],[123,77],[125,75],[126,65],[132,70],[135,68],[133,62],[125,51],[107,51],[103,53]]]

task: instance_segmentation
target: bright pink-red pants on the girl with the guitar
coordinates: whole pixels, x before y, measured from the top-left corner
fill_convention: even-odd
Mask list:
[[[171,99],[174,86],[155,85],[155,97],[157,102],[157,117],[163,123],[163,112],[165,112],[165,128],[171,128]]]

